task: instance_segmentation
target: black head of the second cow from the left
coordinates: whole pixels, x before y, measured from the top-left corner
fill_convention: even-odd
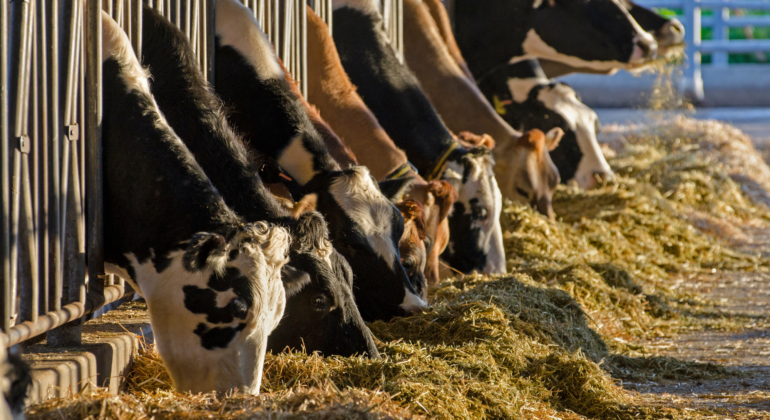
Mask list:
[[[317,212],[300,215],[292,236],[291,265],[283,269],[286,311],[270,334],[268,350],[379,357],[353,299],[353,272],[332,248],[323,217]]]

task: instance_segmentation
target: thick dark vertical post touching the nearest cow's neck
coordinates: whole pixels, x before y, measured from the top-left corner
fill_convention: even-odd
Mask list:
[[[89,293],[87,302],[100,308],[104,301],[104,236],[103,236],[103,178],[102,178],[102,20],[99,18],[101,0],[89,0],[86,32],[86,234],[88,244]]]

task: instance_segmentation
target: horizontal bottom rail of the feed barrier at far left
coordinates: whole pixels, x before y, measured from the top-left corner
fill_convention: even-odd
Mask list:
[[[124,295],[124,288],[121,285],[114,285],[104,288],[105,304],[112,303]],[[84,315],[93,313],[96,307],[90,301],[85,304],[81,302],[70,303],[56,311],[41,315],[37,322],[23,322],[10,329],[9,337],[11,345],[21,343],[32,337],[44,334],[47,331],[60,327],[68,322],[78,320]]]

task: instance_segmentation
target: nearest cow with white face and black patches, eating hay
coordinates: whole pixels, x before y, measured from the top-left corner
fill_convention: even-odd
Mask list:
[[[128,36],[106,13],[102,25],[105,270],[147,300],[177,391],[258,394],[291,236],[225,204],[158,109]]]

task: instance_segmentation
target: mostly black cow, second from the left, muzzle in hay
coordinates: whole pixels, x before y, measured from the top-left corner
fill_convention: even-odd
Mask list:
[[[242,139],[230,129],[221,100],[203,79],[185,35],[152,8],[143,12],[143,61],[150,90],[176,134],[222,194],[247,221],[290,229],[290,262],[284,266],[286,310],[268,350],[304,343],[308,352],[377,357],[377,348],[352,295],[350,267],[328,239],[317,212],[290,217],[250,165]],[[301,322],[306,329],[296,328]]]

